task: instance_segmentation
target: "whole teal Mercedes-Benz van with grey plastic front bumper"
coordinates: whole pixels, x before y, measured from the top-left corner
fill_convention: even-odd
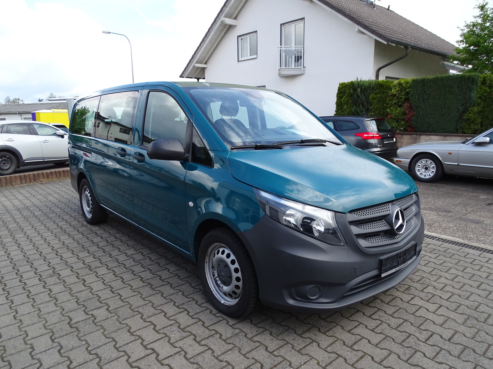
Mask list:
[[[224,314],[260,299],[340,309],[420,262],[413,180],[276,91],[149,82],[79,99],[70,179],[90,224],[116,214],[198,263]]]

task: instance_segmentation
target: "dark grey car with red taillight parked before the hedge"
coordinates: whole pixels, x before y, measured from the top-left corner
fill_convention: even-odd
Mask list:
[[[320,119],[358,149],[385,158],[397,155],[396,133],[383,118],[331,116]]]

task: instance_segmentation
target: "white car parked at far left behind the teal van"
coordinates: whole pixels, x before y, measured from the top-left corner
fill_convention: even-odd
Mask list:
[[[69,160],[68,134],[48,123],[4,121],[0,132],[0,176],[27,165]]]

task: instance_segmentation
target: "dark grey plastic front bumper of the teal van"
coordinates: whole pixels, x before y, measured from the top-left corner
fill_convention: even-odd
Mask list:
[[[239,236],[252,257],[263,304],[287,310],[331,311],[387,291],[407,277],[421,260],[423,233],[421,221],[402,246],[416,242],[416,258],[386,277],[380,277],[380,257],[391,251],[367,252],[349,237],[348,246],[330,246],[267,215]]]

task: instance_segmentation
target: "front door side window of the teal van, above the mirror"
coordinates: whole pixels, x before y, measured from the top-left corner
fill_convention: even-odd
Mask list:
[[[165,92],[149,92],[145,107],[142,145],[152,141],[176,138],[185,145],[188,118],[176,100]]]

